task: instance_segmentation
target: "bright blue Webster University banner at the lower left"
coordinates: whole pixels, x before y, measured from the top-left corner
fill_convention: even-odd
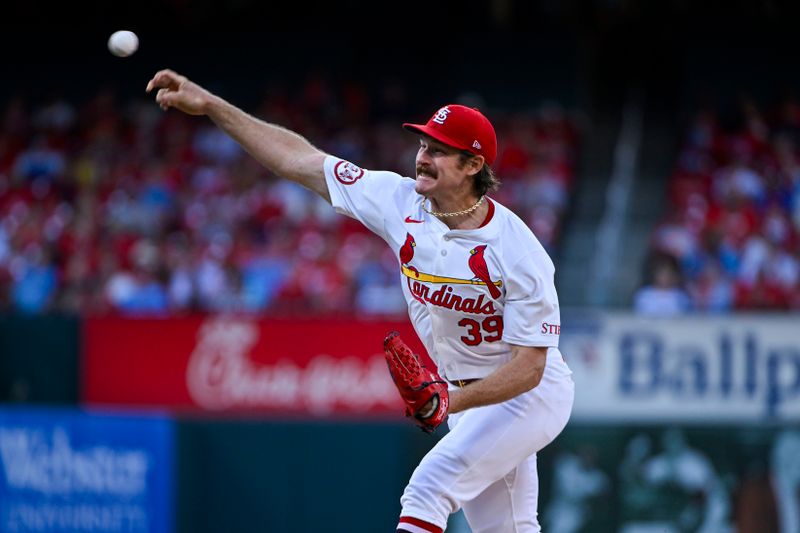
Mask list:
[[[0,408],[0,531],[173,530],[172,423]]]

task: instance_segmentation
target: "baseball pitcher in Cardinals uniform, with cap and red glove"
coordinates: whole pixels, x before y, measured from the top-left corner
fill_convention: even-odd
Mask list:
[[[438,368],[396,334],[384,343],[407,414],[450,431],[415,469],[398,532],[442,532],[463,508],[474,533],[539,531],[536,452],[569,418],[574,384],[558,350],[553,263],[497,186],[494,128],[479,111],[439,109],[419,136],[415,179],[327,155],[187,78],[158,72],[163,109],[207,115],[275,174],[300,183],[384,239],[397,254],[409,316]]]

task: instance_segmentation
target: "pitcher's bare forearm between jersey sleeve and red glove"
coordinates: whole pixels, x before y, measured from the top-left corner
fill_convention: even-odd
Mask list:
[[[450,413],[500,403],[528,392],[539,384],[547,361],[547,348],[511,345],[511,360],[463,389],[450,392]]]

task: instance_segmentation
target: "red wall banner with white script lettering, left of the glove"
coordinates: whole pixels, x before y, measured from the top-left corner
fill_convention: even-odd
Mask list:
[[[98,318],[84,328],[90,404],[397,417],[383,339],[397,330],[424,354],[407,322]]]

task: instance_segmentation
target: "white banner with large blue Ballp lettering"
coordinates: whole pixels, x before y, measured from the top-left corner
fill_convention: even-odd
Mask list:
[[[800,421],[800,316],[573,316],[580,422]]]

